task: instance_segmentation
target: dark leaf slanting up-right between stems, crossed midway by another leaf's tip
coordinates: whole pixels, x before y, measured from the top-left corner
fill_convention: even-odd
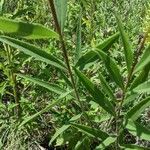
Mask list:
[[[108,51],[110,47],[118,40],[119,34],[115,33],[111,37],[104,40],[96,46],[97,50]],[[85,55],[81,56],[76,66],[84,67],[84,65],[98,59],[98,56],[93,51],[88,51]]]

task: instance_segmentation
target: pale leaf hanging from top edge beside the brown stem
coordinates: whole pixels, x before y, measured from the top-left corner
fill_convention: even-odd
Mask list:
[[[59,22],[62,32],[64,29],[65,20],[66,20],[67,1],[68,0],[55,0],[54,1],[58,22]]]

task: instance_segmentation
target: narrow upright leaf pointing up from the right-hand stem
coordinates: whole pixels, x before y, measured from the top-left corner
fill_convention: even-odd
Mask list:
[[[123,46],[124,46],[124,54],[125,54],[127,69],[128,69],[128,72],[130,72],[131,71],[131,66],[132,66],[132,63],[133,63],[133,52],[132,52],[132,49],[131,49],[131,43],[129,42],[129,38],[128,38],[127,34],[124,32],[123,24],[121,22],[121,19],[118,17],[118,14],[116,14],[115,16],[116,16],[116,20],[117,20],[117,23],[118,23],[118,28],[119,28],[120,35],[121,35],[121,38],[122,38]]]

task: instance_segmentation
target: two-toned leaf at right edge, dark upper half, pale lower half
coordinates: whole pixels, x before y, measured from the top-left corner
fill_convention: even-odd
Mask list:
[[[136,120],[148,106],[150,106],[150,97],[140,101],[133,108],[131,108],[126,114],[126,119]]]

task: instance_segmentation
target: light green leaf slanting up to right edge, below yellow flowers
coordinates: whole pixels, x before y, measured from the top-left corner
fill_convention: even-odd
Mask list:
[[[150,45],[146,48],[138,64],[135,66],[134,73],[140,71],[149,63],[150,63]]]

